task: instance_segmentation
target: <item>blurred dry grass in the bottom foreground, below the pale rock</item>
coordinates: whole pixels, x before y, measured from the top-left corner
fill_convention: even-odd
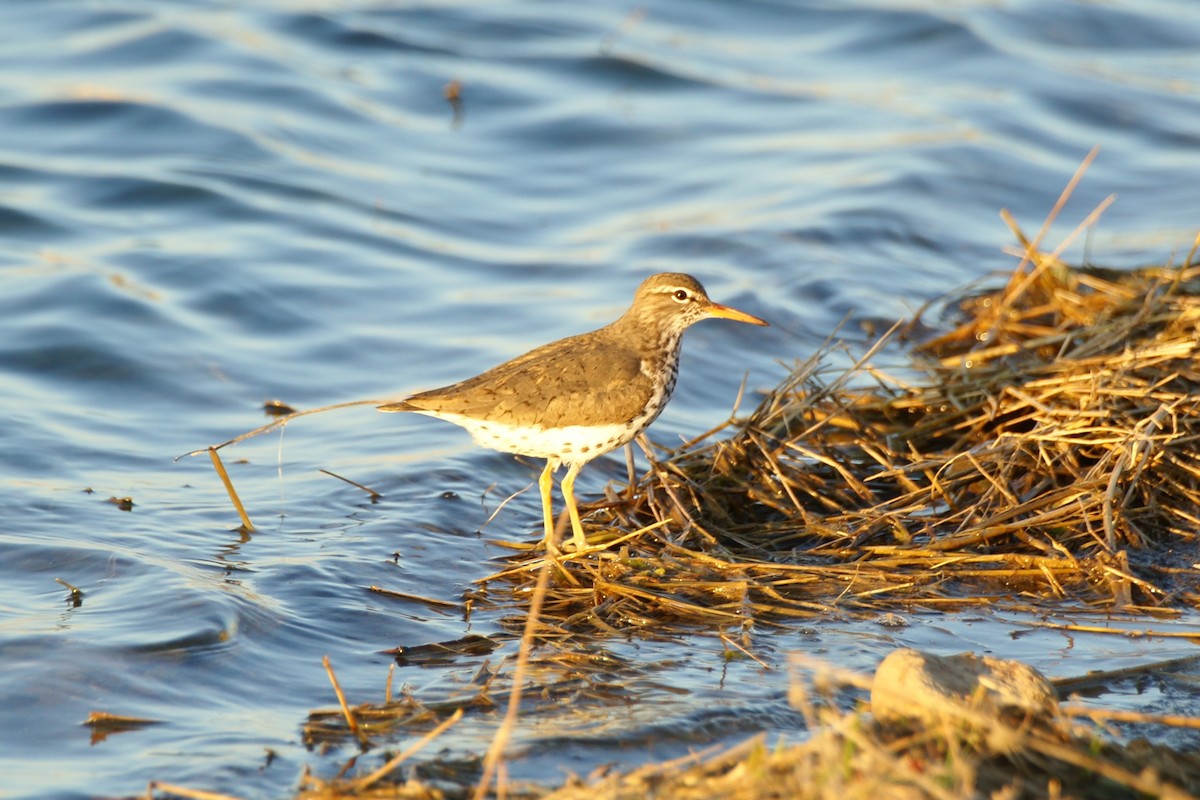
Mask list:
[[[1200,760],[1151,745],[1103,744],[1060,727],[895,730],[864,714],[821,714],[806,742],[764,736],[697,759],[654,764],[569,784],[542,800],[1000,800],[1138,796],[1183,800],[1200,792]]]

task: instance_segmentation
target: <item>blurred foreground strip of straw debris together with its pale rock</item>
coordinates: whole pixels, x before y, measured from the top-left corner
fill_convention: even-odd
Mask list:
[[[1084,680],[1187,672],[1195,660],[1192,656],[1142,664]],[[1074,699],[1069,694],[1078,681],[1046,681],[1020,662],[896,650],[870,676],[797,654],[791,658],[790,673],[788,704],[810,732],[803,741],[772,741],[757,734],[740,742],[701,747],[673,760],[569,776],[553,788],[502,781],[494,793],[480,781],[484,770],[478,758],[464,758],[452,748],[439,751],[413,770],[397,770],[413,752],[461,720],[464,709],[469,709],[468,714],[478,710],[458,704],[449,716],[449,706],[433,714],[432,720],[442,718],[433,729],[428,729],[431,720],[425,717],[412,724],[412,734],[422,735],[398,756],[378,754],[374,760],[384,759],[382,766],[376,768],[374,760],[356,764],[352,759],[329,778],[306,774],[296,798],[466,798],[473,788],[476,798],[542,800],[824,800],[876,798],[881,793],[913,800],[1183,800],[1200,792],[1200,758],[1194,752],[1141,738],[1163,724],[1198,729],[1200,717],[1112,711],[1064,702]],[[846,708],[847,688],[850,697],[859,698],[853,708]],[[896,702],[886,702],[888,697]],[[409,702],[420,705],[415,698]],[[386,715],[394,705],[391,699],[379,705],[364,704],[355,706],[355,714],[366,720]],[[343,711],[314,714],[332,720]],[[502,709],[494,711],[493,717],[503,715]],[[1133,727],[1117,734],[1110,724],[1114,720]],[[392,732],[379,728],[372,735],[388,739]],[[341,739],[361,744],[349,726],[342,726]]]

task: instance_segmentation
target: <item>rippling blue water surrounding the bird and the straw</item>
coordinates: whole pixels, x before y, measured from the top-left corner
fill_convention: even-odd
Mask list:
[[[334,704],[322,655],[352,702],[378,700],[380,650],[498,630],[496,612],[467,622],[366,587],[460,602],[503,553],[487,539],[535,535],[533,493],[476,533],[530,467],[432,420],[314,416],[224,451],[260,528],[241,536],[208,461],[172,457],[254,427],[266,399],[457,380],[684,270],[773,326],[688,335],[653,429],[670,444],[724,419],[744,373],[778,383],[844,318],[859,336],[1012,269],[998,210],[1034,233],[1094,145],[1048,241],[1117,200],[1073,260],[1182,258],[1200,207],[1188,0],[6,0],[0,31],[8,798],[149,780],[289,796],[305,765],[330,775],[353,754],[300,742],[308,710]],[[595,464],[580,491],[622,473]],[[125,497],[130,511],[108,501]],[[793,649],[860,669],[901,644],[991,650],[1051,674],[1190,652],[1013,639],[990,614],[910,622],[763,632],[770,672],[725,663],[709,637],[630,642],[631,679],[658,682],[593,709],[569,744],[553,733],[569,720],[533,720],[512,774],[794,734]],[[397,680],[437,696],[478,666]],[[161,724],[91,744],[91,711]],[[468,717],[449,746],[481,752],[493,722]]]

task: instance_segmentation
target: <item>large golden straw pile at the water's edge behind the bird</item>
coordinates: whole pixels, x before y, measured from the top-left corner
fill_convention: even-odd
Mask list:
[[[622,541],[557,569],[544,622],[724,633],[895,604],[1195,604],[1200,267],[1030,263],[947,303],[954,327],[916,345],[916,379],[872,365],[919,319],[832,380],[828,350],[798,365],[728,439],[610,497],[589,539]],[[526,587],[540,564],[488,581]]]

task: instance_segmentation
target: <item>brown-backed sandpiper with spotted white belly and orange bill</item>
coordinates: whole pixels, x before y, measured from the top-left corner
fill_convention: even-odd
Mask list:
[[[546,549],[557,554],[550,493],[566,465],[563,500],[576,552],[587,547],[575,506],[575,477],[598,456],[632,441],[671,399],[679,343],[688,326],[719,317],[767,323],[708,299],[690,275],[662,272],[642,282],[618,320],[530,350],[474,378],[413,395],[380,411],[415,411],[466,428],[476,444],[546,459],[538,479]]]

